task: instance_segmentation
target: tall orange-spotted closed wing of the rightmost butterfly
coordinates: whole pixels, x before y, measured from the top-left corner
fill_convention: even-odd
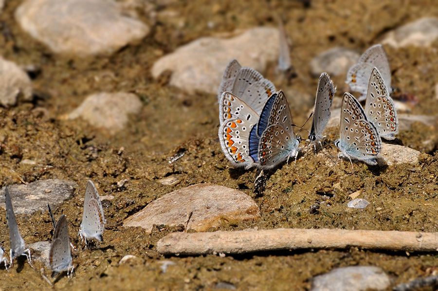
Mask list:
[[[379,70],[374,67],[369,78],[366,93],[365,113],[368,120],[377,128],[381,138],[395,139],[399,132],[399,119],[394,101],[389,96],[384,79]]]

